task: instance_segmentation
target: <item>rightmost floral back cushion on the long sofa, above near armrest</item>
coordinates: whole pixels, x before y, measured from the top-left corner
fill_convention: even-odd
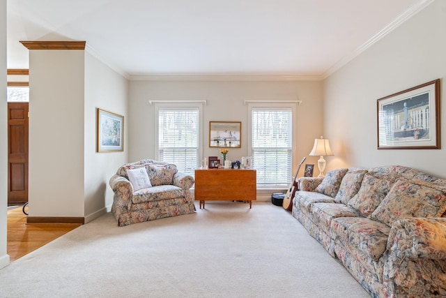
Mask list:
[[[392,225],[399,218],[440,217],[446,210],[446,188],[429,182],[399,179],[371,218]]]

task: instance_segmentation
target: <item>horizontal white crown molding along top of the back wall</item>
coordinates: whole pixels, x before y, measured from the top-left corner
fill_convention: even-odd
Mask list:
[[[321,81],[322,75],[130,75],[130,81]]]

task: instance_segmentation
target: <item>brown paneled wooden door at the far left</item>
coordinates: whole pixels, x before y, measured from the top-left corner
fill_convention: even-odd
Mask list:
[[[8,204],[28,202],[28,103],[8,103]]]

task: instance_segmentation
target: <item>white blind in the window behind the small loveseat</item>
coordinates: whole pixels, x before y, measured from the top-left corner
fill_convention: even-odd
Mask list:
[[[160,108],[158,124],[158,159],[193,175],[199,154],[199,110]]]

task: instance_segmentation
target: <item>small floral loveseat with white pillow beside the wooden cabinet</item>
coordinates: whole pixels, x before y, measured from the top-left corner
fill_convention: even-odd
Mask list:
[[[130,182],[132,176],[129,179],[129,174],[134,170],[139,170],[150,180],[142,188],[141,180]],[[151,159],[127,163],[119,167],[109,184],[114,191],[112,214],[119,226],[195,211],[190,193],[194,177],[178,172],[176,165],[170,163]]]

